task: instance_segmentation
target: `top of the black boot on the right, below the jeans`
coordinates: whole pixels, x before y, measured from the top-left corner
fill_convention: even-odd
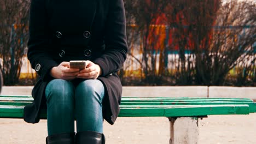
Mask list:
[[[78,132],[75,136],[76,144],[102,144],[105,143],[104,135],[95,131]]]

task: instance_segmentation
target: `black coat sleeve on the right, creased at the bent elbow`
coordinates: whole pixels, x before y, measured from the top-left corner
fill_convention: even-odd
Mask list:
[[[117,72],[126,59],[128,46],[123,0],[109,0],[109,12],[104,32],[105,52],[94,61],[100,65],[102,76]]]

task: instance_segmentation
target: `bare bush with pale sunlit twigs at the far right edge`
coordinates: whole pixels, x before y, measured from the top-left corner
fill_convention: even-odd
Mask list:
[[[255,7],[253,1],[233,0],[219,9],[210,46],[212,63],[209,67],[213,72],[208,83],[211,85],[223,85],[229,78],[226,77],[229,71],[236,68],[238,75],[234,85],[242,86],[255,69],[252,47],[256,41]]]

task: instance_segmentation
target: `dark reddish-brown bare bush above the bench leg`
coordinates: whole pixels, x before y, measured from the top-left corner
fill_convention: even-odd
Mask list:
[[[170,50],[178,46],[178,61],[174,59],[173,62],[177,85],[201,83],[197,74],[208,74],[208,70],[201,67],[208,68],[205,60],[220,3],[220,0],[170,1],[166,15],[172,28]],[[208,79],[208,76],[202,79]]]

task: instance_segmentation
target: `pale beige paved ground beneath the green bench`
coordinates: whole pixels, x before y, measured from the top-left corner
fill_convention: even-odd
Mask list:
[[[169,127],[167,118],[162,117],[118,118],[114,125],[104,123],[104,134],[108,144],[167,144]],[[256,143],[256,113],[209,116],[200,120],[199,129],[199,144]],[[41,144],[46,135],[45,120],[28,124],[22,119],[0,118],[0,144]]]

